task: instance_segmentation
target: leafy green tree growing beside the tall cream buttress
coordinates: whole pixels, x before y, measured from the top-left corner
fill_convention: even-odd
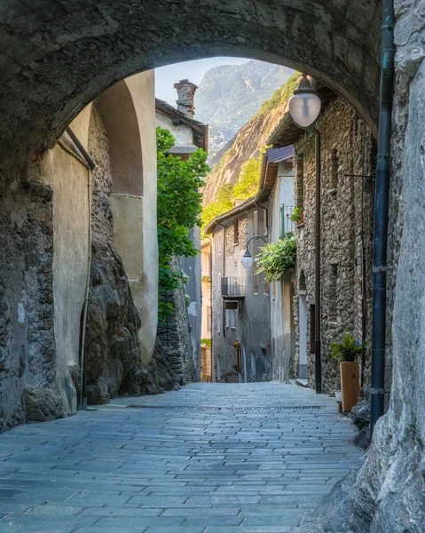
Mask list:
[[[209,172],[207,154],[198,149],[184,161],[169,154],[176,139],[168,130],[156,128],[158,160],[158,249],[161,291],[181,287],[184,276],[171,267],[173,257],[194,257],[198,251],[189,238],[190,230],[201,226],[201,198],[198,188]],[[171,311],[171,304],[160,301],[161,321]]]

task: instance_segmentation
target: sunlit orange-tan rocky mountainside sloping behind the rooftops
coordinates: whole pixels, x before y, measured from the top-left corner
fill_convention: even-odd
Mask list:
[[[227,149],[213,166],[202,189],[202,202],[208,207],[216,201],[217,192],[225,185],[234,186],[240,181],[242,167],[250,159],[256,159],[267,146],[272,131],[287,114],[287,103],[295,91],[300,74],[291,76],[287,83],[274,91],[272,98],[264,101],[260,109],[248,120],[227,145]],[[259,176],[258,176],[259,179]],[[216,212],[216,211],[215,211]],[[204,223],[208,220],[204,217]]]

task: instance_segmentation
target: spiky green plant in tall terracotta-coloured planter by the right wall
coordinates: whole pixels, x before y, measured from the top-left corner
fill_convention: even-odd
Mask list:
[[[340,363],[342,410],[350,411],[358,403],[360,384],[356,358],[362,345],[354,335],[344,333],[342,342],[330,345],[332,356]]]

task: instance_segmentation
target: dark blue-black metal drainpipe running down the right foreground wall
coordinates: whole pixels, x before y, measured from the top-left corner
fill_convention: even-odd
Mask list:
[[[384,412],[387,313],[387,242],[390,196],[391,114],[394,94],[393,0],[382,0],[381,95],[374,196],[374,297],[372,320],[371,437]]]

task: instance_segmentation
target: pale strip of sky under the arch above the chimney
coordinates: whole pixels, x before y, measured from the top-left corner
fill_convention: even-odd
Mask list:
[[[201,79],[209,68],[219,65],[241,65],[246,63],[246,58],[209,58],[208,60],[184,61],[155,68],[155,96],[163,99],[171,106],[176,106],[177,91],[174,84],[186,78],[193,84],[201,84]]]

